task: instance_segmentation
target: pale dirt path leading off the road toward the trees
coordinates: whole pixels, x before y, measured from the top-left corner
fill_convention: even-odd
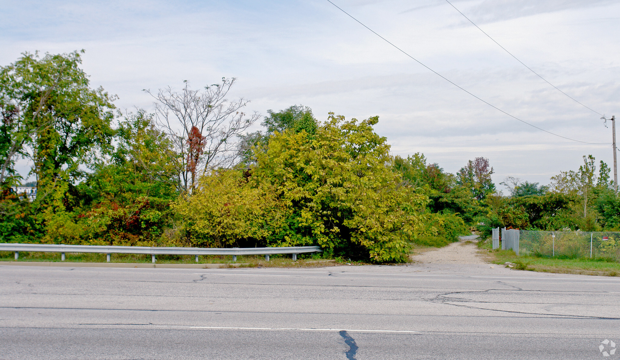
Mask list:
[[[487,262],[477,253],[477,237],[478,235],[459,236],[458,242],[437,250],[412,255],[411,260],[422,264],[486,264]]]

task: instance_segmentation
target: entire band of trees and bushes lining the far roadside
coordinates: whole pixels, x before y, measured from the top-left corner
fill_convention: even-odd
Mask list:
[[[81,52],[24,53],[0,67],[0,242],[319,245],[313,257],[398,263],[471,230],[620,229],[609,167],[591,156],[550,187],[507,178],[503,195],[484,157],[449,173],[420,152],[393,156],[378,116],[319,120],[302,105],[260,116],[231,99],[234,83],[146,90],[153,113],[120,112],[89,83]],[[24,160],[29,173],[17,170]],[[124,259],[150,261],[113,255]]]

